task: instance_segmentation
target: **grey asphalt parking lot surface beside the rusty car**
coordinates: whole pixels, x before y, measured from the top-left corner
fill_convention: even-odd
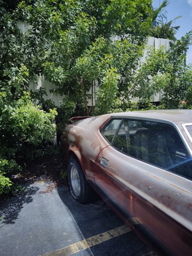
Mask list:
[[[48,185],[0,201],[1,256],[155,255],[101,199],[81,205],[65,186],[43,193]]]

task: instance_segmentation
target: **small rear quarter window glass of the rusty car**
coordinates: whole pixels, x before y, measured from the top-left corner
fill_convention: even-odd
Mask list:
[[[121,121],[122,119],[111,119],[107,126],[102,130],[102,134],[110,143],[113,141],[115,132],[117,131]]]

